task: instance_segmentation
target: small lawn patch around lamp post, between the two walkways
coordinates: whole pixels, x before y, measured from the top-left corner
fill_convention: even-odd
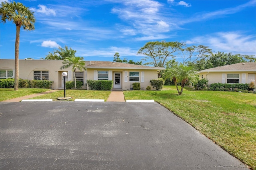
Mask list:
[[[53,101],[74,101],[75,99],[104,99],[106,102],[111,91],[99,90],[66,90],[66,97],[72,97],[68,100],[58,100],[58,97],[64,97],[64,90],[45,94],[30,99],[52,99]]]

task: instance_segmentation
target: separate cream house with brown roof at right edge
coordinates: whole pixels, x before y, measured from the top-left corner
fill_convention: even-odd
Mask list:
[[[198,72],[200,78],[212,83],[250,83],[255,82],[256,62],[245,62],[227,66],[209,68]]]

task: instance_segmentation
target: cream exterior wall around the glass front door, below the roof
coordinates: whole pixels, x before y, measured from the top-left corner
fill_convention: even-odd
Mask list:
[[[147,86],[151,86],[150,85],[150,80],[152,79],[157,79],[158,78],[158,73],[157,70],[142,70],[142,69],[92,69],[92,68],[88,68],[87,69],[87,80],[94,80],[94,70],[96,71],[112,71],[112,80],[114,80],[114,72],[121,72],[122,73],[122,81],[121,81],[121,88],[123,90],[130,90],[130,88],[132,87],[132,83],[134,82],[130,82],[129,81],[129,72],[140,72],[140,87],[142,90],[146,90]],[[128,72],[128,81],[125,82],[124,81],[124,74],[125,72]],[[141,82],[142,79],[142,74],[141,72],[144,72],[144,82]],[[110,77],[110,76],[109,76]]]

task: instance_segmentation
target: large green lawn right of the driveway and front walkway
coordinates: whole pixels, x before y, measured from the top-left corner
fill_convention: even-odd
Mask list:
[[[126,91],[125,99],[153,99],[224,150],[256,170],[256,94],[195,91]]]

